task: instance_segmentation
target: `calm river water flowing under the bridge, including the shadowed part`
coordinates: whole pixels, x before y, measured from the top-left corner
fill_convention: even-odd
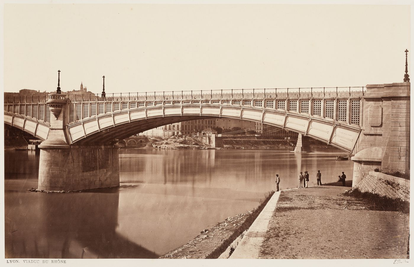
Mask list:
[[[227,217],[258,206],[266,191],[351,178],[341,151],[120,150],[114,189],[35,193],[39,152],[5,151],[6,258],[158,258]],[[59,163],[56,163],[59,164]]]

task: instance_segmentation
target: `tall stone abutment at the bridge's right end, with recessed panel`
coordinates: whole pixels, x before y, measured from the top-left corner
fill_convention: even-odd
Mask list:
[[[367,85],[363,102],[352,186],[375,168],[410,168],[410,83]]]

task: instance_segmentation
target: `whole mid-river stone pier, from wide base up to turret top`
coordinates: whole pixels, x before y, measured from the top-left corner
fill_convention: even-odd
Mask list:
[[[72,191],[119,186],[118,147],[69,145],[65,95],[48,95],[50,132],[40,145],[38,190]]]

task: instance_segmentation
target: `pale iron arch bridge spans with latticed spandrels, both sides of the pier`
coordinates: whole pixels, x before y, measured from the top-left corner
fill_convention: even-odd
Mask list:
[[[111,144],[158,126],[204,118],[266,123],[352,152],[361,132],[364,87],[210,90],[66,95],[68,144]],[[41,140],[49,134],[46,97],[5,99],[4,122]]]

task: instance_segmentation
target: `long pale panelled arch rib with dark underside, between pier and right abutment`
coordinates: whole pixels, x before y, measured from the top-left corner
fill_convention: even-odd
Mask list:
[[[359,137],[359,126],[329,118],[262,107],[222,105],[154,106],[126,109],[85,118],[67,125],[71,144],[111,144],[137,132],[170,123],[205,118],[229,118],[261,122],[321,140],[352,152]]]

